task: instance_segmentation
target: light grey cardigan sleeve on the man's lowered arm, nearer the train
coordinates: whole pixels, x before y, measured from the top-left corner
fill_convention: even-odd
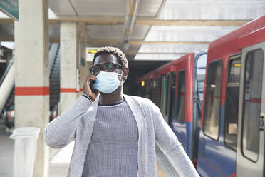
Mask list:
[[[192,161],[184,151],[177,136],[165,122],[157,106],[154,108],[155,141],[162,152],[167,156],[172,166],[180,176],[199,176]]]

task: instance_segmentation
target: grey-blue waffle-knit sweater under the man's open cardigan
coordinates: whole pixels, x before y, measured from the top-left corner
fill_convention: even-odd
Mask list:
[[[98,106],[82,177],[136,177],[138,131],[126,101]]]

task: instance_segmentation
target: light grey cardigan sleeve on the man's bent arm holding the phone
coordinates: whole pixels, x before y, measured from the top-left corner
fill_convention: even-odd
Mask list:
[[[63,148],[76,136],[76,126],[83,114],[92,105],[91,101],[80,96],[72,106],[61,113],[61,116],[53,119],[44,128],[44,140],[51,148]]]

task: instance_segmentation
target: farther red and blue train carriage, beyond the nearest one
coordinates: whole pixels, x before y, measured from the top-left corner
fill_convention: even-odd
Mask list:
[[[165,121],[194,163],[199,145],[206,59],[206,51],[186,54],[141,79],[144,85],[141,96],[160,107]]]

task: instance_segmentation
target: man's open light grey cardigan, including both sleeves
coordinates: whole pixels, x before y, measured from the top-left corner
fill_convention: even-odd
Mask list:
[[[98,96],[99,97],[99,96]],[[80,96],[44,129],[44,139],[52,148],[63,148],[75,139],[68,177],[81,177],[85,155],[93,132],[98,97],[93,103]],[[155,142],[180,176],[199,176],[160,109],[147,98],[124,95],[138,128],[137,168],[139,177],[157,176]]]

